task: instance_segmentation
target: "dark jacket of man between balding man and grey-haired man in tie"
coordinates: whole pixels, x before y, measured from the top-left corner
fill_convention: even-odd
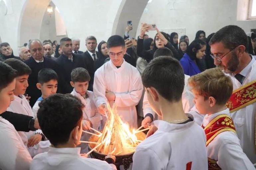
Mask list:
[[[72,70],[77,67],[82,67],[86,69],[83,56],[74,53],[72,53],[72,55],[73,61],[68,60],[68,57],[64,54],[60,55],[60,57],[58,57],[56,60],[64,77],[64,93],[70,93],[73,90],[72,86],[70,85],[70,74]]]

